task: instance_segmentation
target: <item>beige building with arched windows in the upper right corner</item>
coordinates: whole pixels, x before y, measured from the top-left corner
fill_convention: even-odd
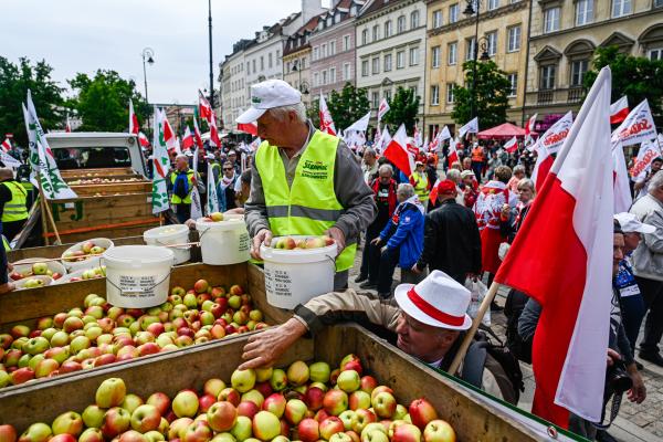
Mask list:
[[[592,54],[597,48],[609,45],[661,60],[663,0],[535,1],[526,114],[538,113],[541,122],[550,114],[578,110]]]

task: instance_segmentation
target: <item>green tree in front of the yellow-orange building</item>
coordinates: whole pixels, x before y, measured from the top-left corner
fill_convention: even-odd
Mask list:
[[[474,64],[476,63],[475,91],[472,91]],[[451,117],[457,124],[465,124],[473,117],[478,117],[478,127],[488,128],[506,122],[511,82],[506,73],[501,71],[494,61],[463,63],[465,84],[467,87],[453,88],[455,105]],[[474,104],[474,106],[473,106]],[[474,107],[474,115],[472,108]]]

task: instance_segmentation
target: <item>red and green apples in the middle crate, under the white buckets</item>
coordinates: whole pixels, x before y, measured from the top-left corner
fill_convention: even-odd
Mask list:
[[[173,287],[148,309],[114,307],[96,294],[83,304],[0,334],[0,388],[267,327],[241,286],[225,291],[206,280]]]

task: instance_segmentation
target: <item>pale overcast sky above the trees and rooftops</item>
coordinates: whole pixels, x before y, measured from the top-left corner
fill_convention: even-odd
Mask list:
[[[214,87],[235,41],[299,10],[301,0],[212,0]],[[45,59],[63,86],[76,72],[108,69],[145,94],[146,46],[155,52],[149,102],[194,103],[197,90],[209,88],[208,1],[0,0],[0,55]]]

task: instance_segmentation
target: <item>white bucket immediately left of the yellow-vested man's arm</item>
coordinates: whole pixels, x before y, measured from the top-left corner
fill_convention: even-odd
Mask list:
[[[229,265],[249,261],[251,238],[243,217],[219,222],[199,219],[196,229],[200,232],[202,262],[210,265]]]

